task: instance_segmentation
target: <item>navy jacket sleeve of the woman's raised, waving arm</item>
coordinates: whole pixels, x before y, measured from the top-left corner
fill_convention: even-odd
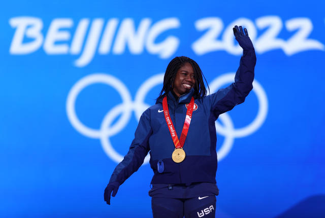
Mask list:
[[[210,95],[211,110],[216,117],[232,110],[235,105],[245,101],[246,96],[253,89],[255,64],[255,51],[244,50],[236,72],[235,82]]]

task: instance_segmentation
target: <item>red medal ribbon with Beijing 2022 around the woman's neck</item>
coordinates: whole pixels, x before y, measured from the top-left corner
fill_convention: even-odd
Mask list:
[[[188,132],[188,127],[189,127],[189,124],[192,119],[193,106],[194,106],[194,98],[192,97],[191,101],[189,102],[189,104],[187,106],[186,118],[185,118],[183,130],[181,133],[180,140],[178,140],[178,136],[176,134],[174,124],[173,124],[172,119],[169,115],[167,96],[165,96],[163,99],[163,109],[164,109],[165,120],[166,120],[168,129],[169,129],[169,132],[171,133],[171,136],[172,136],[172,139],[173,139],[176,149],[183,148],[183,146],[184,146],[185,139],[186,139],[187,132]]]

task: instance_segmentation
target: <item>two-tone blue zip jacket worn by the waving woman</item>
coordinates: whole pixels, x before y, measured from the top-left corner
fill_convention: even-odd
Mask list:
[[[151,184],[216,183],[217,154],[215,121],[222,113],[244,102],[252,90],[256,56],[254,50],[244,51],[235,82],[216,93],[194,99],[197,110],[193,111],[188,134],[184,143],[186,158],[180,163],[172,160],[175,146],[166,124],[163,111],[163,98],[149,107],[141,116],[128,153],[115,168],[110,183],[122,184],[125,179],[138,170],[150,151],[150,166],[154,172]],[[171,119],[178,138],[183,129],[186,116],[185,104],[189,103],[193,90],[175,99],[167,93]],[[164,171],[157,170],[158,162],[164,163]]]

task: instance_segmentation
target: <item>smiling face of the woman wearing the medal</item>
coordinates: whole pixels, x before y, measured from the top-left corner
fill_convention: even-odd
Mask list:
[[[191,88],[194,87],[196,78],[194,76],[193,67],[190,63],[185,63],[177,71],[173,91],[177,97],[187,93]]]

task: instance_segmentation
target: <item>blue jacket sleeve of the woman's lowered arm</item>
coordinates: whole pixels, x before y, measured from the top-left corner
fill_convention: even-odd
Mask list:
[[[119,185],[139,169],[142,165],[144,158],[148,154],[149,137],[152,134],[150,125],[150,111],[149,108],[141,115],[135,138],[131,146],[124,156],[124,159],[116,166],[109,183],[117,182]]]

